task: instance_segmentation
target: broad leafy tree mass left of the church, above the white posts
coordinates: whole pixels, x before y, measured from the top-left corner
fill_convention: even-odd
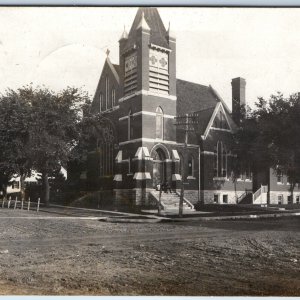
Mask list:
[[[88,95],[75,88],[54,93],[32,86],[8,90],[1,97],[0,144],[6,149],[1,162],[24,179],[33,169],[40,172],[46,205],[49,174],[71,158],[80,137],[82,106],[87,100]]]

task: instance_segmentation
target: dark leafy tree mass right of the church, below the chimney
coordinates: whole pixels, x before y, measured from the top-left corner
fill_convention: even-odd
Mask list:
[[[235,138],[239,160],[257,171],[273,168],[288,176],[291,197],[300,182],[300,94],[269,100],[259,98],[256,109],[244,118]]]

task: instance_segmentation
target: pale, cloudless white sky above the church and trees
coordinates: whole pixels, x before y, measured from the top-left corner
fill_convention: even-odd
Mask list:
[[[93,96],[106,57],[137,8],[0,7],[0,92],[28,83],[83,87]],[[177,37],[177,78],[211,84],[231,107],[231,79],[247,103],[300,91],[299,8],[159,8]]]

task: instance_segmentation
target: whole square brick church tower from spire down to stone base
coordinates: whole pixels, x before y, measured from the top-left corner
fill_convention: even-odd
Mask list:
[[[176,38],[170,25],[166,30],[157,8],[139,8],[129,33],[124,29],[119,40],[119,64],[122,160],[118,166],[121,170],[128,161],[128,170],[122,171],[118,186],[139,193],[135,197],[139,202],[147,199],[147,189],[154,186],[154,152],[163,149],[161,173],[165,180],[171,180],[170,147],[176,143]],[[131,173],[132,178],[128,176]]]

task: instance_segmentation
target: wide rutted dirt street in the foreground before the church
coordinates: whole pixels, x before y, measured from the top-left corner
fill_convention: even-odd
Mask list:
[[[36,216],[0,210],[2,295],[300,296],[299,217],[136,224]]]

